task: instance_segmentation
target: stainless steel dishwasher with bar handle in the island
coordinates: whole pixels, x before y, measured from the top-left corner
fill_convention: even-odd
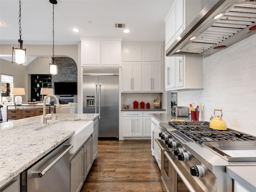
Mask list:
[[[69,140],[21,173],[21,192],[70,192]]]

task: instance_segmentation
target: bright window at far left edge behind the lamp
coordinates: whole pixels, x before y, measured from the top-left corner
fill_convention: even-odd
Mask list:
[[[11,88],[13,88],[13,76],[1,75],[1,103],[13,101]]]

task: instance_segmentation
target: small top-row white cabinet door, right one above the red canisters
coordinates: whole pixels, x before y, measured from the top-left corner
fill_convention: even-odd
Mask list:
[[[143,45],[142,61],[162,61],[161,45]]]

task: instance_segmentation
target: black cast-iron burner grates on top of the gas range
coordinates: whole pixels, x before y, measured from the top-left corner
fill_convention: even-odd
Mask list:
[[[205,141],[256,141],[256,137],[232,129],[215,130],[209,122],[169,122],[177,130],[190,136],[200,144]]]

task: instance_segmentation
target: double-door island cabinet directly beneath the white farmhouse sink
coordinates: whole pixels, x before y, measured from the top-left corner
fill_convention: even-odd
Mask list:
[[[79,192],[92,167],[92,137],[90,136],[70,161],[70,191]]]

